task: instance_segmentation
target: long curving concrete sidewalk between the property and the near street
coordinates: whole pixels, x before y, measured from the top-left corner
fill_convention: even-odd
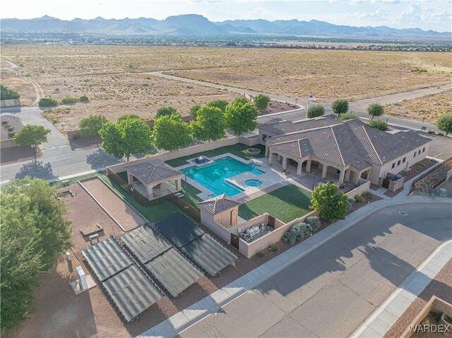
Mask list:
[[[239,279],[236,279],[234,282],[224,286],[222,289],[215,291],[213,294],[210,294],[210,296],[194,303],[192,306],[189,306],[189,308],[186,308],[167,320],[160,322],[160,324],[151,327],[138,337],[177,337],[179,332],[186,330],[186,328],[194,325],[199,320],[206,318],[210,313],[218,312],[223,306],[227,305],[227,303],[234,301],[234,299],[242,296],[246,291],[253,289],[267,279],[273,277],[275,274],[278,274],[278,272],[283,271],[286,267],[289,267],[300,258],[303,258],[316,250],[316,248],[331,241],[335,236],[350,229],[374,212],[394,205],[432,203],[432,200],[434,200],[435,203],[452,205],[452,201],[446,198],[416,196],[409,199],[379,200],[378,202],[361,207],[359,210],[350,214],[347,219],[343,219],[332,224],[330,227],[323,229],[309,239],[302,241],[281,255],[276,256],[260,267],[257,267]]]

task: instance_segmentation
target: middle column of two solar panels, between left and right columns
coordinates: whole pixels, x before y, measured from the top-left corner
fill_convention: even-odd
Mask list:
[[[131,231],[121,240],[173,297],[203,277],[203,272],[149,224]]]

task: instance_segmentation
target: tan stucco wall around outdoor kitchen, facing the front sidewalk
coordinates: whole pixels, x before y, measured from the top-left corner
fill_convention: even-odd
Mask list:
[[[284,224],[283,227],[279,227],[278,229],[271,231],[270,233],[262,236],[260,239],[251,243],[246,243],[246,241],[244,241],[243,239],[239,239],[239,251],[246,258],[251,258],[253,255],[256,255],[256,253],[258,253],[259,251],[262,251],[271,244],[276,243],[283,239],[283,236],[286,233],[286,231],[289,230],[293,225],[304,222],[304,220],[310,216],[319,216],[319,214],[320,214],[319,211],[309,212],[309,214],[294,219],[292,220],[292,222]]]

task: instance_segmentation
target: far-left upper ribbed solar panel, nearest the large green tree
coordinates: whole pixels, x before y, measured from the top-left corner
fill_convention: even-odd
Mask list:
[[[133,264],[133,260],[113,237],[86,248],[82,255],[101,282]]]

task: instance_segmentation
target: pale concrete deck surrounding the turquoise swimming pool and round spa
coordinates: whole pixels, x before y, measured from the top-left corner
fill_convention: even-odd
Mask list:
[[[242,193],[238,193],[237,195],[232,196],[232,198],[239,200],[240,202],[247,202],[248,200],[252,200],[254,198],[258,198],[261,195],[264,195],[266,193],[269,193],[270,191],[274,191],[275,189],[281,188],[282,186],[286,186],[287,184],[295,184],[296,186],[300,186],[301,188],[309,190],[306,186],[303,186],[302,184],[298,183],[294,179],[292,179],[291,175],[283,175],[280,171],[277,169],[273,169],[268,165],[268,159],[266,158],[260,158],[260,159],[242,159],[238,156],[235,156],[229,152],[218,155],[215,157],[209,157],[210,159],[220,159],[222,157],[231,157],[233,159],[237,159],[237,161],[245,163],[245,164],[251,164],[254,163],[258,165],[261,171],[263,171],[263,174],[256,175],[252,173],[251,171],[246,171],[242,174],[238,174],[236,176],[232,176],[229,179],[226,179],[229,183],[234,184],[234,186],[237,186],[243,190]],[[193,167],[193,163],[184,164],[183,166],[177,167],[177,170],[185,169],[188,167]],[[185,179],[185,177],[184,177]],[[259,181],[262,181],[261,186],[246,186],[244,183],[246,180],[249,179],[257,179]],[[212,191],[210,191],[208,188],[203,186],[202,184],[194,181],[193,179],[190,179],[189,176],[186,176],[186,181],[190,183],[192,186],[197,188],[201,193],[198,193],[196,196],[198,198],[201,198],[201,200],[207,200],[208,198],[214,197]],[[310,191],[310,190],[309,190]]]

